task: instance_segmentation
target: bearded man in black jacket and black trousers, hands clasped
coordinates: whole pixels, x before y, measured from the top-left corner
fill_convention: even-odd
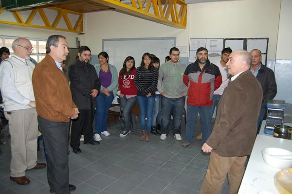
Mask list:
[[[96,106],[95,97],[100,91],[100,82],[94,67],[89,63],[91,50],[81,46],[78,59],[69,68],[70,88],[75,105],[80,115],[73,120],[70,146],[75,154],[81,153],[80,137],[84,135],[84,144],[99,144],[93,139],[93,110]]]

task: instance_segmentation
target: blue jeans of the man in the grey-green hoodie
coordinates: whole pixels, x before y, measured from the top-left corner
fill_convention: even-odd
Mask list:
[[[162,130],[161,133],[168,135],[169,123],[171,115],[173,117],[172,133],[181,134],[182,131],[182,117],[184,110],[185,97],[180,98],[167,98],[162,96],[161,108],[162,108]]]

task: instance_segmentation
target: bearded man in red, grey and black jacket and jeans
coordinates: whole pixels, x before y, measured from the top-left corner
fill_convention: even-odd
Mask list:
[[[208,50],[199,48],[197,60],[188,65],[183,74],[183,83],[188,87],[187,123],[183,147],[188,147],[194,139],[195,125],[200,113],[202,123],[202,143],[211,134],[213,92],[222,83],[219,68],[208,59]]]

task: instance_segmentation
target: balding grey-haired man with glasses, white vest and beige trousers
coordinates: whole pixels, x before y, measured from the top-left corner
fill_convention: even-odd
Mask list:
[[[24,185],[30,183],[26,170],[42,169],[46,164],[37,163],[38,126],[32,84],[35,65],[29,61],[32,44],[26,38],[17,38],[12,49],[14,54],[0,66],[0,87],[11,135],[10,179]]]

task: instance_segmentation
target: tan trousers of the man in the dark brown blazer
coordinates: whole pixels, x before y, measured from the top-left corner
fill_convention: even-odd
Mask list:
[[[237,194],[244,174],[246,158],[247,156],[221,157],[212,151],[200,194],[220,194],[226,174],[229,181],[229,194]]]

